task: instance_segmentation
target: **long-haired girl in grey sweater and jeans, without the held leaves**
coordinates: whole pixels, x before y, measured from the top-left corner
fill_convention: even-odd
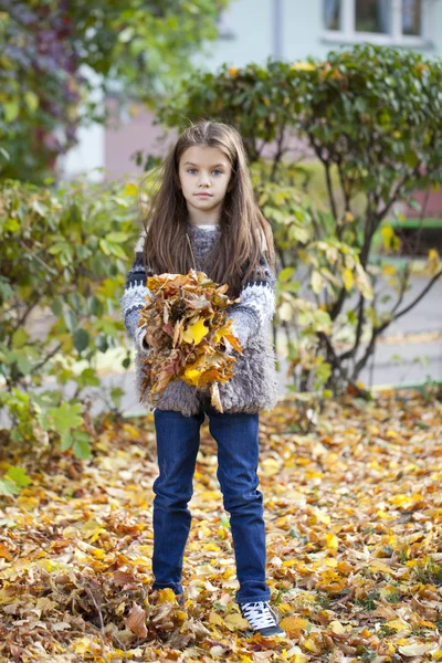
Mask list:
[[[159,476],[155,480],[152,590],[170,587],[183,600],[185,546],[191,513],[193,473],[204,417],[218,445],[223,505],[230,513],[242,615],[262,635],[284,634],[270,606],[265,581],[263,495],[257,490],[259,412],[277,402],[275,355],[269,324],[275,309],[275,252],[270,223],[254,200],[243,143],[231,126],[201,122],[181,134],[162,167],[148,223],[135,246],[122,314],[137,349],[137,391],[141,357],[152,351],[139,311],[149,294],[147,275],[206,272],[228,283],[228,318],[240,339],[235,376],[219,386],[223,413],[210,403],[209,388],[170,382],[154,409]],[[190,250],[190,246],[192,251]],[[194,260],[194,263],[193,263]],[[148,391],[145,402],[149,407]]]

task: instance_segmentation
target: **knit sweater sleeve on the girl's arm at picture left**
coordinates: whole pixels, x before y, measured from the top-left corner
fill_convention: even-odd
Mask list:
[[[146,240],[145,231],[138,238],[135,245],[135,255],[130,270],[126,275],[126,286],[124,295],[120,299],[122,318],[126,330],[135,344],[138,352],[150,352],[151,347],[146,344],[146,324],[138,327],[139,312],[146,304],[146,296],[150,295],[149,288],[146,286],[147,274],[143,262],[143,249]],[[148,269],[148,275],[152,272]]]

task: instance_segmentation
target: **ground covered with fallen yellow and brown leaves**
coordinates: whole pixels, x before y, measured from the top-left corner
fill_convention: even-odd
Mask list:
[[[94,455],[22,452],[32,484],[0,502],[6,661],[442,660],[442,402],[418,392],[261,414],[267,581],[287,638],[246,629],[206,421],[189,504],[186,603],[151,592],[152,415],[104,420]],[[155,602],[155,599],[159,599]]]

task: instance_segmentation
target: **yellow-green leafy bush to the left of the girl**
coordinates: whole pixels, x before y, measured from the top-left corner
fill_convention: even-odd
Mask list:
[[[91,453],[85,389],[99,386],[97,356],[128,346],[119,297],[138,235],[136,192],[130,183],[1,185],[0,408],[14,441],[49,434],[80,457]],[[33,334],[35,316],[51,318],[43,335]],[[55,387],[39,390],[49,377]],[[122,391],[109,397],[117,407]]]

